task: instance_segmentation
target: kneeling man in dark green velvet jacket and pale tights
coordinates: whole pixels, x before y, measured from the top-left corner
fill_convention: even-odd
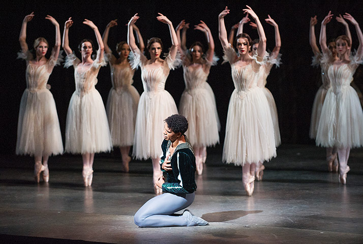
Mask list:
[[[192,145],[184,134],[188,129],[187,119],[174,114],[164,121],[163,156],[159,167],[166,171],[167,181],[161,174],[156,185],[165,193],[142,205],[134,216],[134,222],[139,227],[207,225],[208,222],[194,216],[188,209],[183,215],[174,214],[194,201],[196,165]]]

